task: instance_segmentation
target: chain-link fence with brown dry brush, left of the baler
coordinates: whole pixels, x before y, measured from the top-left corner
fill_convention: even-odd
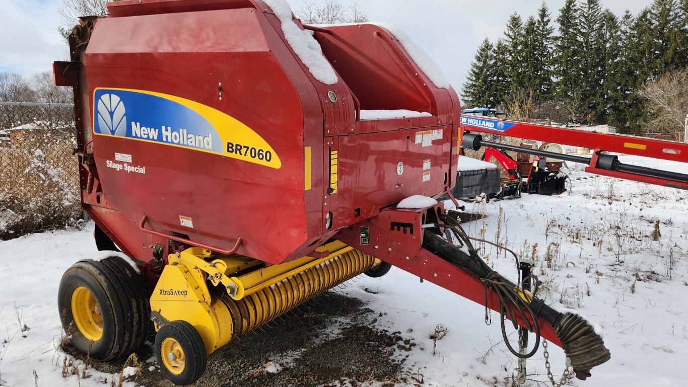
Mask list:
[[[82,215],[74,106],[0,102],[0,240]]]

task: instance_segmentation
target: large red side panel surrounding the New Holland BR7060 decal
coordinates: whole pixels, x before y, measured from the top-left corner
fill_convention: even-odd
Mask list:
[[[241,236],[239,252],[264,261],[283,261],[307,245],[302,109],[283,70],[288,66],[278,62],[261,33],[264,25],[258,19],[263,15],[222,10],[98,23],[87,51],[91,93],[107,87],[184,96],[243,122],[281,160],[281,168],[275,169],[183,146],[96,135],[94,154],[103,197],[125,215],[131,232],[140,233],[133,230],[146,213],[147,227],[153,230],[181,232],[226,250]],[[195,33],[181,37],[179,25]],[[197,44],[200,40],[203,43]],[[147,124],[160,127],[165,122]],[[145,174],[109,168],[115,153],[131,155],[131,164],[145,167]],[[279,211],[266,212],[264,207]],[[193,228],[180,224],[180,216],[193,219]],[[266,231],[266,224],[272,225],[271,231]],[[264,243],[266,232],[275,243]],[[150,259],[148,239],[131,247],[142,261]]]

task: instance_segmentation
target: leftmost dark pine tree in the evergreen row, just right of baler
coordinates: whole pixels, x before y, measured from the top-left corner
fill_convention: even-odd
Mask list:
[[[494,90],[494,60],[493,45],[488,38],[482,41],[477,49],[475,60],[466,82],[463,85],[462,98],[464,104],[473,107],[492,107],[495,104]]]

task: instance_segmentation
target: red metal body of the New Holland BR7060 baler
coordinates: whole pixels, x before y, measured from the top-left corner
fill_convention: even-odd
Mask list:
[[[453,184],[458,96],[436,87],[382,27],[314,32],[338,73],[338,82],[325,85],[259,0],[108,7],[110,16],[94,25],[76,85],[83,203],[140,261],[151,259],[151,245],[167,245],[160,233],[176,232],[215,251],[237,245],[238,254],[281,263],[310,254],[380,208],[439,195]],[[99,111],[101,99],[113,111]],[[126,108],[126,132],[98,133],[101,117],[111,120],[108,127],[119,124],[118,102]],[[356,120],[361,109],[432,116]],[[195,146],[170,140],[171,133],[183,138],[193,131],[182,127],[187,122],[203,120],[216,133],[201,133]],[[157,129],[157,137],[141,127]],[[418,143],[419,132],[434,139]]]

